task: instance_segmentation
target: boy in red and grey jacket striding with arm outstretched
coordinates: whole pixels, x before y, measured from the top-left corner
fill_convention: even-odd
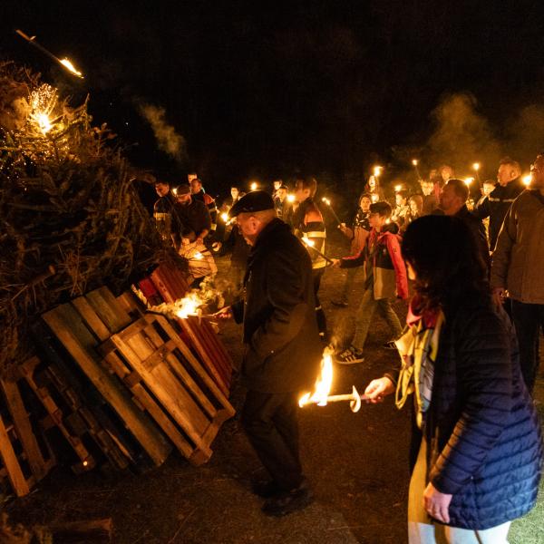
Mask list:
[[[356,257],[335,259],[335,266],[342,268],[364,265],[364,293],[355,315],[355,335],[352,345],[342,354],[335,356],[336,363],[363,363],[363,346],[374,310],[384,317],[392,333],[392,339],[384,347],[394,348],[393,340],[403,332],[398,316],[394,313],[390,298],[408,298],[406,267],[399,239],[390,229],[391,206],[387,202],[370,205],[370,234],[364,248]]]

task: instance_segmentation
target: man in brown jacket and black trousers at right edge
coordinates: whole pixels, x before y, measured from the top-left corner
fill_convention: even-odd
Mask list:
[[[491,193],[492,194],[492,193]],[[532,393],[539,370],[539,328],[544,329],[544,155],[531,167],[530,188],[508,210],[493,252],[491,287],[510,295],[520,345],[521,373]]]

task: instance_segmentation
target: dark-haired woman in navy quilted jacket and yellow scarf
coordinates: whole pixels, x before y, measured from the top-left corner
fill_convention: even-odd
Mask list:
[[[542,459],[514,330],[460,219],[416,219],[402,251],[415,280],[402,367],[365,393],[396,392],[399,408],[413,393],[409,542],[504,544],[536,502]]]

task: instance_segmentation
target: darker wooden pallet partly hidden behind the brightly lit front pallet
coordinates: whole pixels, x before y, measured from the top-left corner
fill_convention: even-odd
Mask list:
[[[131,316],[112,293],[102,287],[72,303],[57,306],[43,318],[151,460],[156,465],[164,462],[171,451],[170,444],[124,384],[104,367],[96,350],[104,335],[131,323]]]

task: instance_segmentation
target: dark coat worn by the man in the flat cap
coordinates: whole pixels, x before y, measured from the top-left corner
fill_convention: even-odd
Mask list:
[[[312,262],[280,219],[257,237],[244,283],[245,300],[232,306],[244,323],[244,384],[262,393],[311,391],[323,353]]]

